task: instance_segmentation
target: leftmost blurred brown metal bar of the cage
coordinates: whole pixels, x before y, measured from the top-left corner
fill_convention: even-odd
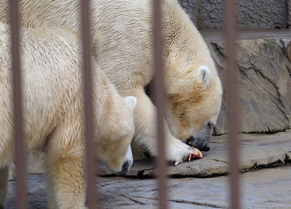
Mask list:
[[[14,148],[16,164],[16,209],[27,208],[27,192],[25,182],[25,152],[24,134],[21,113],[21,72],[18,38],[17,0],[10,0],[11,42],[12,42],[12,71],[13,71],[13,99],[14,99]]]

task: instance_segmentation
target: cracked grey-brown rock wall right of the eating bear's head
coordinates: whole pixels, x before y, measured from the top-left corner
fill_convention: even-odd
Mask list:
[[[224,88],[214,134],[224,134],[228,126],[225,42],[207,44]],[[291,38],[238,40],[237,66],[240,131],[273,133],[291,128]]]

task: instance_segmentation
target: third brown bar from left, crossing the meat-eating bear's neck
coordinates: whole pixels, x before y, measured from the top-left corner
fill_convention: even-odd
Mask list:
[[[159,208],[167,208],[167,191],[166,191],[166,160],[164,148],[164,128],[163,128],[163,64],[162,64],[162,26],[161,26],[161,1],[153,0],[154,3],[154,44],[155,44],[155,77],[153,80],[153,99],[157,106],[157,139],[158,151],[158,185],[159,185]]]

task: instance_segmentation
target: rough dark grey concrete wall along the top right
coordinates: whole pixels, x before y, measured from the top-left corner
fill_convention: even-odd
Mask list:
[[[224,0],[178,0],[199,29],[222,28]],[[239,28],[288,28],[291,0],[237,0]]]

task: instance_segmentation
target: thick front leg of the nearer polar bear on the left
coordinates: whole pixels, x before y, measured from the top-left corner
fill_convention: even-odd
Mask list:
[[[83,136],[81,114],[78,111],[74,114],[65,114],[50,134],[45,157],[50,209],[85,208]]]

